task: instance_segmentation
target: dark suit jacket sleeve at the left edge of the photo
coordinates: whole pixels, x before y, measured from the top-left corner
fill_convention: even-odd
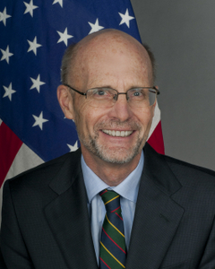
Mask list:
[[[10,180],[4,183],[0,248],[3,268],[33,269],[13,206]],[[2,267],[1,267],[2,268]]]

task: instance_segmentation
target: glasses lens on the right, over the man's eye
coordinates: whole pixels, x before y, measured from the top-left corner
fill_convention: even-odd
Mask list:
[[[146,108],[152,106],[156,100],[156,95],[154,89],[136,88],[127,91],[128,101],[134,108]]]

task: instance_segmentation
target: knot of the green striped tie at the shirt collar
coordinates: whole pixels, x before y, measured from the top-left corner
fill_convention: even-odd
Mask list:
[[[105,204],[106,211],[111,213],[121,213],[120,195],[116,194],[113,190],[104,189],[99,193],[103,203]]]

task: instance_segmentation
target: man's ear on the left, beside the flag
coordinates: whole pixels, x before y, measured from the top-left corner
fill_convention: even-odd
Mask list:
[[[68,87],[64,85],[58,86],[56,94],[60,107],[64,112],[64,117],[73,119],[73,96],[68,90]]]

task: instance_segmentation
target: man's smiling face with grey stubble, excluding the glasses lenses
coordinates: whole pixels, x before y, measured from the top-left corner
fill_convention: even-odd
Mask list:
[[[74,84],[71,81],[71,86],[83,92],[97,87],[125,92],[133,87],[152,86],[148,55],[124,47],[115,42],[113,47],[89,48],[81,56],[81,79]],[[131,108],[125,95],[119,95],[111,108],[93,108],[84,96],[75,93],[73,119],[82,154],[113,163],[132,161],[146,142],[153,113],[154,106]]]

